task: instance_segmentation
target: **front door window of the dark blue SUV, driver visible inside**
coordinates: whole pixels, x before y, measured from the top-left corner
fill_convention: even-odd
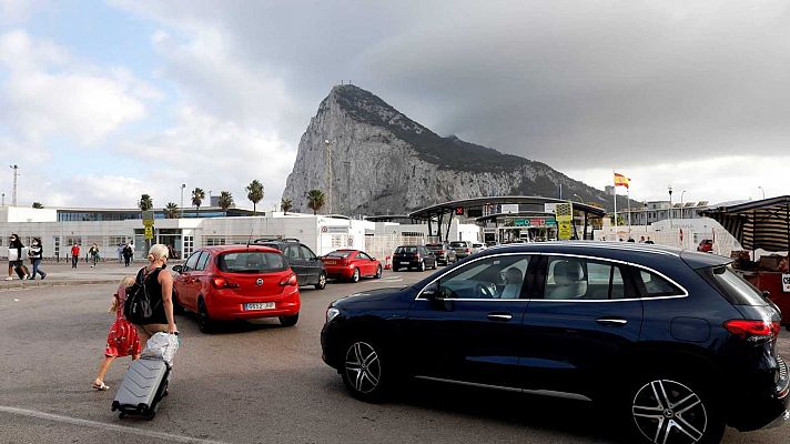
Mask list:
[[[529,255],[490,256],[468,263],[436,284],[444,299],[520,299],[528,290]]]

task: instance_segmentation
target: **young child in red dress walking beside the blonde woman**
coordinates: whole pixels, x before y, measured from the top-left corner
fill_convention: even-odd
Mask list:
[[[107,334],[107,346],[104,347],[104,360],[99,365],[99,374],[93,380],[93,390],[104,391],[110,386],[104,384],[104,375],[110,370],[110,364],[117,357],[132,356],[132,360],[140,357],[140,336],[134,324],[123,317],[123,303],[126,301],[126,289],[134,284],[134,278],[126,276],[121,280],[118,290],[112,297],[109,313],[115,313],[115,321],[110,325]]]

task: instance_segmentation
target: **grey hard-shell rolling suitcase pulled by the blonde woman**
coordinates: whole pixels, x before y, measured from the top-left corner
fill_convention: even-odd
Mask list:
[[[168,395],[170,365],[164,361],[140,359],[132,361],[123,382],[115,393],[112,411],[153,420],[159,402]]]

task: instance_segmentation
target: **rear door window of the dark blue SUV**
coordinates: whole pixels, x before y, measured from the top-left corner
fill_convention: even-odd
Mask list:
[[[618,263],[550,256],[546,270],[547,300],[617,300],[634,294]]]

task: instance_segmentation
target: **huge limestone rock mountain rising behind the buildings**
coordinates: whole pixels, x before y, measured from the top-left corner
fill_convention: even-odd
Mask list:
[[[283,198],[294,211],[310,212],[307,191],[317,189],[326,194],[322,213],[404,214],[485,195],[556,198],[560,184],[566,198],[611,203],[544,163],[442,138],[378,97],[338,85],[302,135]]]

